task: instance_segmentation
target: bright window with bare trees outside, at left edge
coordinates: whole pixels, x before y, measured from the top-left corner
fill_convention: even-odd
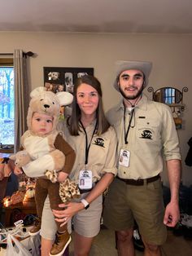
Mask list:
[[[0,143],[14,144],[14,68],[12,58],[0,58]]]

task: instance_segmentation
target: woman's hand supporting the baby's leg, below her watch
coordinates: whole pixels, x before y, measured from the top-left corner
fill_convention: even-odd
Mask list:
[[[84,205],[79,202],[70,202],[68,204],[60,204],[59,207],[65,208],[65,210],[53,210],[53,214],[55,215],[55,220],[59,223],[62,223],[60,227],[68,223],[68,220],[72,218],[78,211],[84,209]]]

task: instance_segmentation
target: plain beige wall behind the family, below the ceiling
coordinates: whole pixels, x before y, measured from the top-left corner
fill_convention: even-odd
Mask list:
[[[153,70],[149,86],[155,90],[187,86],[183,103],[183,129],[178,130],[183,157],[182,180],[192,184],[192,169],[185,166],[185,156],[192,136],[192,34],[102,34],[102,33],[0,33],[0,53],[14,49],[33,51],[30,58],[32,88],[43,86],[43,67],[90,67],[103,84],[104,107],[107,110],[119,99],[111,86],[115,77],[116,60],[151,60]],[[151,94],[146,91],[151,98]],[[165,177],[165,176],[164,176]]]

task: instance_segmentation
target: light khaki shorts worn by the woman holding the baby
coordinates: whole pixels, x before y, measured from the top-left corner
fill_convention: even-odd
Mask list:
[[[81,195],[80,201],[86,196],[86,193]],[[73,227],[76,233],[85,237],[94,237],[100,231],[100,220],[103,211],[103,196],[98,196],[87,210],[81,210],[72,218]],[[55,224],[54,214],[50,210],[50,201],[46,198],[42,219],[40,235],[48,240],[55,240],[57,226]],[[71,222],[68,221],[68,232],[72,232]]]

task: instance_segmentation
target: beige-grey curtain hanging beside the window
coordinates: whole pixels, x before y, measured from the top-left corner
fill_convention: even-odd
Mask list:
[[[20,148],[20,137],[27,130],[28,111],[28,71],[27,58],[22,50],[14,51],[14,71],[15,71],[15,148],[17,152]]]

